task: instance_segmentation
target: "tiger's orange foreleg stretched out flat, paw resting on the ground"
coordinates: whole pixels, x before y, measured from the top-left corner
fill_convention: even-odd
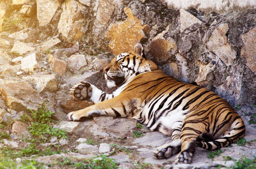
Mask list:
[[[133,104],[133,105],[132,105]],[[129,106],[124,106],[129,105]],[[131,112],[132,108],[138,107],[140,101],[131,100],[129,97],[116,96],[115,98],[106,99],[92,105],[90,107],[70,112],[67,115],[68,121],[79,121],[81,117],[92,117],[92,116],[112,116],[112,117],[127,117]]]

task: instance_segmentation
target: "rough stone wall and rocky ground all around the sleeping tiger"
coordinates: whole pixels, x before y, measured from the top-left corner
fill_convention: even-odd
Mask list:
[[[52,2],[0,2],[0,168],[256,168],[255,10]],[[175,165],[174,157],[152,156],[170,138],[134,120],[66,121],[93,104],[72,100],[70,87],[86,78],[108,91],[100,70],[138,41],[169,75],[228,99],[246,124],[244,139],[220,151],[196,149],[192,164]]]

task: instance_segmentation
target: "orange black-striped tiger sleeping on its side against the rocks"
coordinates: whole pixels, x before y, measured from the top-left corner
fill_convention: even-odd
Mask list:
[[[172,142],[157,147],[154,158],[177,154],[175,163],[191,163],[196,146],[216,150],[244,136],[243,120],[225,99],[166,75],[145,56],[140,43],[116,55],[103,71],[107,86],[116,90],[108,94],[85,81],[74,85],[74,99],[95,105],[68,113],[68,121],[92,116],[136,119],[151,131],[172,136]]]

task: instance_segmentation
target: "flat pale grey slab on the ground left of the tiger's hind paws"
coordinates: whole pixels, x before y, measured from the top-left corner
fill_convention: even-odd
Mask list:
[[[151,147],[159,147],[164,143],[172,142],[172,138],[159,132],[145,133],[143,137],[136,138],[132,143],[136,145],[149,145]]]

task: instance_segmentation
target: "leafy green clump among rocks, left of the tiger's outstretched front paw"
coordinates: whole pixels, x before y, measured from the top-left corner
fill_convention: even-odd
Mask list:
[[[29,124],[28,131],[36,138],[40,140],[47,140],[47,136],[57,136],[58,138],[67,138],[67,132],[62,129],[52,128],[51,124],[55,122],[52,119],[52,114],[55,112],[51,112],[46,108],[40,106],[37,110],[30,110],[31,115],[25,114],[22,116],[22,121],[27,122]]]

